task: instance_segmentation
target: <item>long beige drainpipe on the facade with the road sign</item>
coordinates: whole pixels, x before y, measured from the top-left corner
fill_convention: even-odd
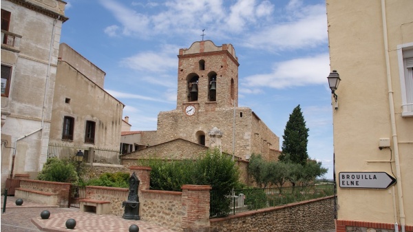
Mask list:
[[[397,197],[399,201],[399,217],[401,224],[401,231],[405,232],[405,213],[403,204],[403,191],[401,189],[401,173],[400,173],[400,160],[399,160],[399,142],[397,141],[396,119],[394,117],[394,100],[392,89],[392,76],[390,74],[390,59],[388,51],[388,34],[387,34],[387,22],[385,15],[385,0],[381,0],[381,19],[383,20],[383,41],[384,41],[384,54],[385,54],[385,67],[387,72],[388,81],[388,93],[389,93],[389,106],[390,106],[390,121],[392,127],[392,138],[394,146],[394,163],[396,165],[396,178],[397,178]],[[394,191],[393,191],[394,193]],[[397,225],[397,222],[394,224]]]

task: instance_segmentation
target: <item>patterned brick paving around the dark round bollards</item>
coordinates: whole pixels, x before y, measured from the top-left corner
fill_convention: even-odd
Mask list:
[[[21,206],[16,205],[16,199],[7,197],[6,213],[3,212],[4,196],[1,196],[1,232],[32,232],[32,231],[129,231],[131,224],[139,226],[139,232],[172,232],[151,222],[142,220],[125,220],[116,215],[96,215],[96,213],[81,212],[74,208],[59,208],[44,204],[36,204],[27,200]],[[40,213],[50,211],[50,218],[43,220]],[[67,219],[76,220],[74,229],[67,229]]]

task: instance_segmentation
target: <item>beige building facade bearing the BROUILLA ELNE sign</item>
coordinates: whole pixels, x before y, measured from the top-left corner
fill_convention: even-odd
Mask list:
[[[336,229],[413,231],[413,1],[326,7],[330,67],[341,78],[332,99]]]

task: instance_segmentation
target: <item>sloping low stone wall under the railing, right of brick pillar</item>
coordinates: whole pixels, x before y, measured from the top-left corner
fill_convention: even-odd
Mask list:
[[[326,231],[335,228],[334,197],[318,198],[213,218],[211,232],[218,231]]]

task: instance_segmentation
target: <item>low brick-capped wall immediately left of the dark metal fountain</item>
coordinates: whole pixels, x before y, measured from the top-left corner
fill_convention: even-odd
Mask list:
[[[109,201],[110,214],[123,215],[122,202],[127,200],[128,194],[129,189],[125,188],[87,186],[85,198]]]

